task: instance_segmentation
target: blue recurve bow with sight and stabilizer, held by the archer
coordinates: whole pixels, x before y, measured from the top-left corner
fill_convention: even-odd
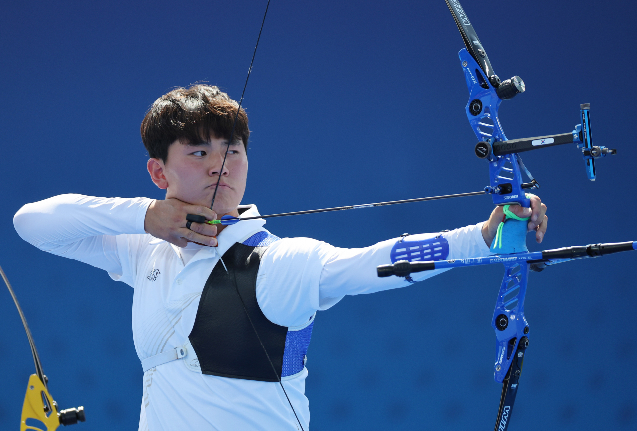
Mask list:
[[[595,181],[595,160],[615,154],[616,151],[605,146],[592,145],[590,105],[580,106],[582,124],[576,125],[571,132],[534,138],[507,139],[497,118],[497,111],[503,100],[513,99],[524,92],[524,81],[517,75],[500,80],[459,1],[445,0],[445,2],[454,16],[455,24],[466,46],[459,52],[462,71],[469,90],[469,101],[465,111],[471,129],[478,138],[475,153],[489,164],[489,185],[485,187],[485,193],[492,195],[494,204],[504,206],[505,214],[508,213],[508,206],[511,205],[529,208],[529,195],[525,194],[525,190],[540,188],[538,181],[531,176],[522,163],[518,154],[520,152],[575,143],[582,152],[589,180]],[[523,173],[527,177],[527,182],[522,180]],[[516,218],[507,216],[501,223],[490,247],[494,255],[438,262],[403,260],[393,265],[381,265],[377,269],[379,277],[392,275],[406,277],[413,272],[433,269],[494,263],[505,265],[505,276],[497,294],[491,321],[497,339],[494,379],[503,384],[495,431],[506,431],[508,428],[524,353],[529,345],[529,325],[524,318],[524,295],[529,270],[540,272],[549,265],[569,260],[637,249],[637,241],[627,241],[529,252],[526,247],[527,220],[516,220]]]

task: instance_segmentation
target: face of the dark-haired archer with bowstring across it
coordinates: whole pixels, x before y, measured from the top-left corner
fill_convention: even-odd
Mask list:
[[[215,186],[221,176],[213,210],[219,217],[238,216],[237,206],[243,199],[248,178],[248,155],[241,139],[228,148],[227,140],[212,138],[196,145],[175,141],[168,147],[166,163],[148,160],[148,173],[157,187],[166,190],[166,199],[176,198],[193,205],[210,207]]]

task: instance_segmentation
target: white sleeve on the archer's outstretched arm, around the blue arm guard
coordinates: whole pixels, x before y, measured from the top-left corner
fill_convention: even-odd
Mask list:
[[[449,259],[489,255],[482,225],[442,234]],[[440,233],[419,234],[423,239]],[[374,293],[410,285],[404,278],[376,276],[378,265],[390,264],[397,238],[364,248],[338,248],[310,238],[284,238],[264,253],[257,280],[257,300],[266,317],[278,325],[301,325],[317,310],[334,306],[345,295]],[[413,274],[415,281],[448,271]]]

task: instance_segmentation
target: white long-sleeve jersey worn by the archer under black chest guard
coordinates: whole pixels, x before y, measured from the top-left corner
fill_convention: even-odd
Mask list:
[[[217,247],[189,243],[180,248],[145,232],[151,202],[68,194],[27,204],[13,219],[25,241],[104,269],[114,280],[135,289],[132,333],[140,360],[185,346],[204,283],[219,257],[234,243],[264,230],[266,223],[255,219],[229,225],[218,235]],[[253,205],[242,215],[259,213]],[[481,227],[478,223],[445,232],[448,258],[488,255]],[[406,286],[402,278],[376,276],[376,266],[390,263],[396,241],[364,248],[338,248],[303,237],[275,241],[264,253],[257,275],[259,306],[274,323],[297,327],[345,295]],[[440,272],[420,272],[413,279]],[[140,431],[299,428],[278,383],[203,375],[184,363],[176,360],[145,372]],[[306,376],[304,369],[283,382],[304,430],[310,420]]]

